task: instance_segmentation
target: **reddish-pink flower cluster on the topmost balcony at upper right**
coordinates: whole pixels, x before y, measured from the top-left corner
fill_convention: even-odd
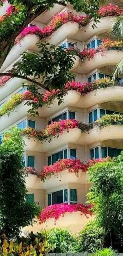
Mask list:
[[[101,17],[119,16],[119,15],[121,15],[122,12],[123,12],[123,9],[119,8],[119,6],[109,4],[109,5],[103,5],[103,7],[99,9],[98,14]]]

